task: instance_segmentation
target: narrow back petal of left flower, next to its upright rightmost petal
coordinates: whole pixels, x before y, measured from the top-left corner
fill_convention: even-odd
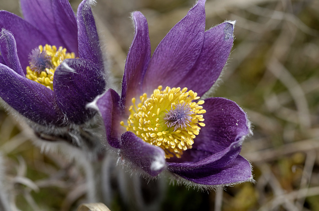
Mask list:
[[[78,27],[74,11],[68,0],[53,0],[52,9],[56,29],[68,52],[78,52]]]

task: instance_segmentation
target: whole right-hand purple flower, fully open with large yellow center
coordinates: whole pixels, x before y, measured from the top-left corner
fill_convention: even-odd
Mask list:
[[[205,31],[204,6],[199,0],[152,58],[147,20],[134,12],[122,95],[110,89],[96,106],[109,145],[151,176],[166,169],[202,185],[252,181],[251,165],[239,155],[251,133],[246,113],[230,100],[198,97],[215,83],[233,45],[233,22]]]

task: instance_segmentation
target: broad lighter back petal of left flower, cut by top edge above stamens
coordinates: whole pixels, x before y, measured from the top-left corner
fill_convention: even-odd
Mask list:
[[[27,22],[46,36],[49,42],[44,44],[66,47],[59,34],[58,26],[55,24],[56,17],[54,17],[55,14],[52,9],[53,1],[56,0],[20,0],[22,14]],[[60,18],[64,20],[66,17],[62,16]]]

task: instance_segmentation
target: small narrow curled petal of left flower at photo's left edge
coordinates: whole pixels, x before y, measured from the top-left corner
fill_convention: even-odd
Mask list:
[[[2,29],[0,36],[0,52],[6,66],[14,70],[17,74],[25,76],[16,51],[16,43],[13,35]]]

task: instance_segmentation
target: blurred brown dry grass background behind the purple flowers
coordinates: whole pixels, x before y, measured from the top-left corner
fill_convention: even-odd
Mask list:
[[[70,0],[75,11],[79,2]],[[93,11],[114,88],[134,35],[130,13],[147,17],[154,51],[194,3],[97,0]],[[0,9],[21,15],[18,0],[0,0]],[[206,28],[224,20],[237,20],[236,39],[213,96],[235,101],[252,122],[254,135],[241,155],[251,161],[256,183],[201,191],[164,178],[148,183],[108,163],[104,201],[112,211],[319,211],[319,1],[207,0]],[[21,211],[68,211],[87,202],[85,165],[45,152],[31,139],[0,106],[0,188],[9,204]],[[132,198],[130,185],[139,196]]]

